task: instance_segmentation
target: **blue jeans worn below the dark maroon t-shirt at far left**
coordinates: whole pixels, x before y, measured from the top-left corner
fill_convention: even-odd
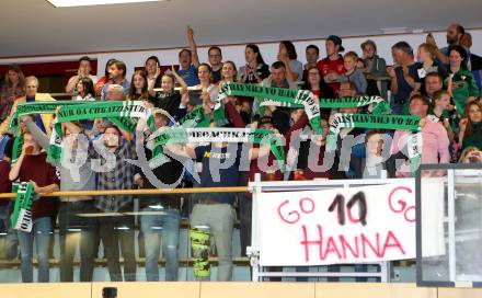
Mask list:
[[[36,242],[38,259],[38,283],[48,283],[48,245],[51,236],[50,217],[39,217],[34,219],[34,227],[31,232],[19,231],[20,253],[22,255],[22,282],[33,283],[33,262],[34,239]]]

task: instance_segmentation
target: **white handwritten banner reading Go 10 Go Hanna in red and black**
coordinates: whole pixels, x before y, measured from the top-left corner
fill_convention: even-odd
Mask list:
[[[262,193],[255,204],[263,266],[416,256],[413,180],[353,188]]]

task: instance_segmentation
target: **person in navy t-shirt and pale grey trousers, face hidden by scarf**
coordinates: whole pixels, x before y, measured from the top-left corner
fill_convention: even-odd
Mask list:
[[[200,160],[200,187],[238,186],[242,146],[228,142],[213,142],[207,146],[188,144],[180,146],[168,144],[164,148],[171,154]],[[251,160],[269,153],[269,146],[251,148],[248,158]],[[234,221],[234,195],[232,193],[209,193],[199,196],[191,216],[191,227],[207,226],[214,236],[218,252],[217,280],[232,278],[232,225]]]

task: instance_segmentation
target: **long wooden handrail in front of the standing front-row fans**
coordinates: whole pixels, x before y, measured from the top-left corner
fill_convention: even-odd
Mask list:
[[[157,195],[157,194],[206,194],[206,193],[246,193],[248,186],[193,187],[174,190],[117,190],[117,191],[71,191],[42,194],[42,196],[105,196],[105,195]],[[0,194],[0,198],[13,198],[15,193]]]

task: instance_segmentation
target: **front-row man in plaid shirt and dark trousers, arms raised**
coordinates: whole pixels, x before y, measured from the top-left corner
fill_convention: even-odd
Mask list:
[[[81,133],[81,128],[66,123],[72,134]],[[93,170],[97,172],[96,190],[117,191],[131,190],[140,183],[140,175],[135,175],[135,168],[126,160],[136,160],[135,140],[125,141],[120,129],[112,124],[104,124],[103,134],[89,144],[89,158]],[[130,195],[100,196],[94,203],[95,208],[111,216],[99,218],[100,238],[102,240],[111,282],[122,282],[123,273],[119,264],[119,244],[124,257],[124,280],[136,280],[135,226],[134,216],[119,215],[134,211],[134,199]]]

